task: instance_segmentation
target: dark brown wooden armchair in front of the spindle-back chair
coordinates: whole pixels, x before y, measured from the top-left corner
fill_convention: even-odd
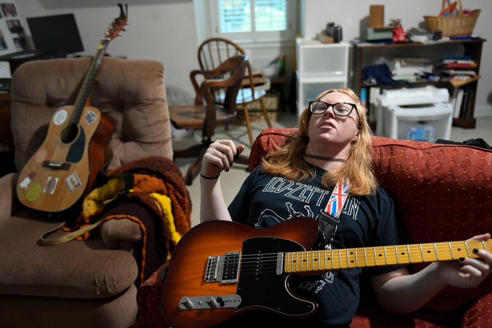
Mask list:
[[[195,105],[169,107],[172,125],[177,129],[202,130],[201,144],[182,151],[174,151],[174,159],[179,157],[197,157],[185,176],[187,185],[201,170],[203,154],[212,143],[214,129],[218,126],[233,124],[236,119],[236,97],[248,64],[248,57],[238,55],[224,61],[213,70],[194,70],[190,73],[191,83],[195,88]],[[196,77],[203,75],[206,79],[198,86]],[[207,78],[207,77],[222,78]],[[226,77],[227,76],[227,77]],[[223,101],[217,104],[212,95],[217,89],[224,90]],[[205,105],[203,105],[203,99]]]

